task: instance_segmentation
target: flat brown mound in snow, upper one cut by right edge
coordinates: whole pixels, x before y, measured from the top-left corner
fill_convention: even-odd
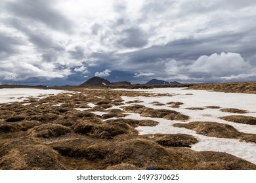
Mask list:
[[[256,125],[256,118],[252,116],[232,115],[220,117],[221,120],[235,122],[238,124]]]

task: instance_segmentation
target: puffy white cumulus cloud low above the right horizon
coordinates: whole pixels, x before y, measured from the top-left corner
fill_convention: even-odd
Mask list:
[[[251,65],[240,54],[221,53],[200,56],[190,66],[190,72],[208,73],[213,76],[232,76],[247,73]]]

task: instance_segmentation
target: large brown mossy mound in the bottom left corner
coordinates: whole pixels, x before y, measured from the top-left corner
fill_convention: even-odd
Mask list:
[[[70,169],[58,152],[30,137],[3,142],[0,155],[1,169]]]

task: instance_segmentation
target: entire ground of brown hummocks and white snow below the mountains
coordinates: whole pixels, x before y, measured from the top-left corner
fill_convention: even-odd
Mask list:
[[[256,169],[254,85],[0,89],[0,169]]]

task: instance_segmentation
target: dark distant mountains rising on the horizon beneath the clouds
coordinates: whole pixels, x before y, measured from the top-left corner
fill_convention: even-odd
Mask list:
[[[157,80],[152,79],[146,84],[180,84],[179,82],[167,82],[164,80]],[[132,85],[131,82],[128,81],[119,81],[119,82],[110,82],[109,80],[106,80],[104,78],[100,78],[98,76],[94,76],[93,78],[90,78],[80,86],[104,86],[104,85]]]

